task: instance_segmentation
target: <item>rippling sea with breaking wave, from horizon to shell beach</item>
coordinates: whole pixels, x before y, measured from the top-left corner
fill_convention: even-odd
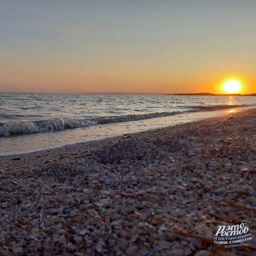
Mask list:
[[[0,93],[0,157],[155,130],[255,106],[255,96]]]

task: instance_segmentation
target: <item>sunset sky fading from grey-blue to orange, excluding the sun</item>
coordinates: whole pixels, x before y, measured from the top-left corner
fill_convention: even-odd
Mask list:
[[[255,0],[8,0],[0,91],[256,92]]]

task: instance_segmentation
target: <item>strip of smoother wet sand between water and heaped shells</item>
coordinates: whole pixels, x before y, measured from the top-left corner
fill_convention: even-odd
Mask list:
[[[124,134],[106,138],[97,141],[80,142],[72,145],[65,145],[53,149],[45,149],[36,152],[28,152],[22,154],[15,154],[11,156],[0,156],[0,171],[15,171],[19,169],[30,169],[36,166],[43,166],[47,163],[57,164],[68,161],[74,161],[78,158],[83,158],[91,152],[100,150],[102,147],[109,144],[114,144],[122,141],[129,141],[133,139],[148,139],[152,137],[161,137],[174,135],[182,132],[183,130],[199,129],[201,125],[214,125],[219,121],[226,121],[230,117],[242,117],[256,111],[256,108],[251,110],[243,110],[237,113],[229,113],[220,117],[209,117],[199,121],[192,121],[183,124],[176,124],[173,126],[163,127],[161,129],[148,130],[145,132]]]

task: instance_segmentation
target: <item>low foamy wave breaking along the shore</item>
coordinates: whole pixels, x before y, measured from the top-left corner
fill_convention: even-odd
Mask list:
[[[171,111],[171,112],[155,112],[148,114],[130,114],[120,116],[104,116],[84,119],[74,118],[51,118],[46,120],[29,120],[29,121],[10,121],[6,123],[0,122],[0,137],[9,137],[13,135],[48,133],[53,131],[62,131],[66,129],[74,129],[79,127],[88,127],[97,124],[117,123],[126,121],[138,121],[155,117],[166,117],[183,113],[191,113],[198,111],[211,111],[219,109],[227,109],[234,107],[243,107],[248,105],[216,105],[216,106],[190,106],[187,110]]]

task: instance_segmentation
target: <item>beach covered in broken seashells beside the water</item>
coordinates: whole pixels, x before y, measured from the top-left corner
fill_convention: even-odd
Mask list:
[[[2,157],[0,255],[254,255],[255,145],[252,109]]]

